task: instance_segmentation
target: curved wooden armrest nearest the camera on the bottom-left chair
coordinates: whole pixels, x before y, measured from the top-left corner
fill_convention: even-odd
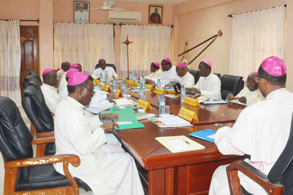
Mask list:
[[[6,161],[4,164],[4,168],[9,169],[18,167],[29,167],[42,164],[53,164],[57,162],[67,162],[74,167],[78,167],[81,164],[81,160],[77,155],[52,155]]]

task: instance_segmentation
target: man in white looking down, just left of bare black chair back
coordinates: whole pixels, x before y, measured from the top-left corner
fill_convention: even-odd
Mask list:
[[[198,69],[200,76],[198,82],[187,90],[208,98],[221,99],[221,81],[218,76],[211,73],[210,61],[202,60],[198,65]]]

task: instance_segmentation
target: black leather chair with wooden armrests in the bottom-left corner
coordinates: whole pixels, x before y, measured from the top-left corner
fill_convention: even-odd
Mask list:
[[[90,188],[81,179],[72,178],[68,163],[80,165],[76,155],[43,156],[33,158],[33,144],[55,141],[55,137],[33,139],[16,104],[0,97],[0,151],[4,160],[4,195],[66,194],[78,195],[78,186]],[[65,176],[57,173],[52,163],[64,162]],[[23,192],[22,192],[23,191]]]

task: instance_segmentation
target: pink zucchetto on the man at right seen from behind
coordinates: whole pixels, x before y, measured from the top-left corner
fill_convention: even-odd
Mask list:
[[[275,56],[265,59],[261,67],[272,76],[281,77],[287,73],[285,62]]]

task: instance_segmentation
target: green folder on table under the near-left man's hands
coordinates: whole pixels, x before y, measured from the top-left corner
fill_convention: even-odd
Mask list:
[[[120,115],[121,119],[119,121],[131,121],[132,124],[123,124],[119,125],[119,130],[123,129],[136,129],[136,128],[145,128],[145,125],[143,123],[139,123],[137,121],[136,115],[131,108],[125,108],[122,110],[108,110],[108,111],[101,111],[101,114],[105,113],[115,113],[117,115]],[[106,122],[106,121],[104,121]],[[115,127],[115,130],[118,130],[117,127]]]

